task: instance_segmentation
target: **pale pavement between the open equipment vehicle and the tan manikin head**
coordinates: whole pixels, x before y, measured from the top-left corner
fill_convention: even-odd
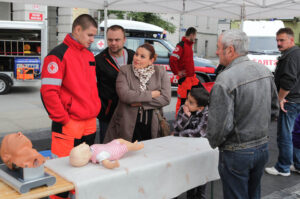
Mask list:
[[[51,121],[41,102],[40,81],[16,85],[10,93],[0,95],[0,135],[49,128]]]

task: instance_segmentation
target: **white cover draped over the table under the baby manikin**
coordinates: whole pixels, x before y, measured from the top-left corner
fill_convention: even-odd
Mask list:
[[[168,199],[219,179],[218,150],[205,138],[168,136],[143,143],[112,170],[93,163],[72,167],[69,157],[45,166],[75,185],[77,199]]]

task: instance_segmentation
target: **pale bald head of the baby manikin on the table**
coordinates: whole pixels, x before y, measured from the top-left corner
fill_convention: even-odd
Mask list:
[[[69,162],[74,167],[82,167],[90,161],[91,157],[90,146],[82,143],[71,150]]]

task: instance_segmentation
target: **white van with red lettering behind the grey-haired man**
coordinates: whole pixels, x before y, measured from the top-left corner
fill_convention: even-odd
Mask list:
[[[244,21],[243,31],[249,37],[249,59],[264,64],[275,72],[280,52],[276,43],[276,32],[284,28],[280,20]]]

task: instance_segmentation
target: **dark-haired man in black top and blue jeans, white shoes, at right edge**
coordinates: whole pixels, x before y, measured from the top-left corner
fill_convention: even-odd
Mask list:
[[[277,144],[279,156],[274,167],[266,168],[271,175],[289,176],[293,164],[292,131],[295,120],[300,113],[300,48],[295,46],[294,33],[290,28],[281,28],[276,33],[278,58],[275,71],[275,84],[278,90],[280,113],[277,125]],[[299,163],[294,164],[300,171]],[[297,166],[296,166],[297,165]]]

